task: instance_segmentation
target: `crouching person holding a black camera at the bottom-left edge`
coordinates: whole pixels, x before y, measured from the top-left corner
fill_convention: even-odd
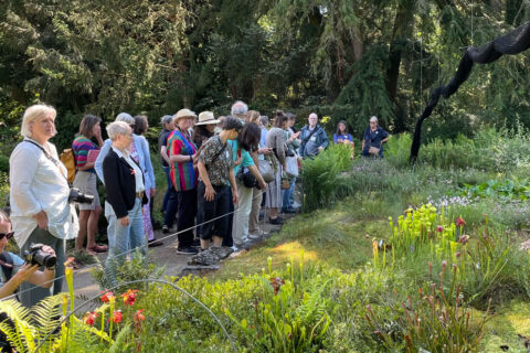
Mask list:
[[[6,252],[8,240],[13,237],[11,221],[8,215],[0,211],[0,299],[11,296],[22,282],[29,281],[42,288],[50,288],[55,276],[55,267],[46,267],[39,270],[39,264],[24,263],[13,253]],[[43,246],[40,250],[55,257],[55,252],[50,246]]]

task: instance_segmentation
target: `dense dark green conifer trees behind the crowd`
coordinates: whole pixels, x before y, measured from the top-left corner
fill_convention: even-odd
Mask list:
[[[518,0],[8,0],[0,129],[17,132],[23,107],[42,100],[60,110],[62,148],[85,113],[107,121],[147,113],[155,125],[183,106],[225,114],[244,99],[266,114],[279,107],[346,119],[356,135],[371,115],[393,132],[411,130],[430,89],[452,77],[459,47],[529,15]],[[437,108],[425,139],[516,118],[530,125],[527,67],[527,53],[477,67]],[[13,138],[2,133],[8,146]]]

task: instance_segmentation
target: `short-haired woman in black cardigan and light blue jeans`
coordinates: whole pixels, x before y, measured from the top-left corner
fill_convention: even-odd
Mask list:
[[[108,234],[108,258],[110,281],[116,284],[115,268],[125,259],[129,249],[139,248],[146,255],[146,237],[141,206],[148,202],[145,193],[144,173],[140,167],[130,158],[129,148],[132,142],[132,130],[124,121],[115,121],[107,126],[108,137],[113,147],[103,161],[103,175],[107,201],[113,206],[116,217],[114,234]]]

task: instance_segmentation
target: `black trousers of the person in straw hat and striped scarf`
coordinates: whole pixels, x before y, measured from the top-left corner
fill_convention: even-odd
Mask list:
[[[177,199],[179,202],[179,220],[177,221],[179,248],[190,247],[193,245],[193,227],[195,226],[197,188],[177,192]],[[182,232],[184,229],[187,231]]]

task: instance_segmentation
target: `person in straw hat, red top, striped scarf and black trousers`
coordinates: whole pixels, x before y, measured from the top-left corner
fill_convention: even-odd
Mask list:
[[[197,115],[190,109],[180,109],[174,116],[174,130],[168,138],[169,172],[173,189],[169,196],[165,224],[173,225],[171,215],[178,208],[177,231],[179,232],[179,247],[177,254],[197,254],[193,247],[193,227],[197,214],[197,182],[198,172],[193,165],[197,156],[197,146],[193,143],[189,129]]]

